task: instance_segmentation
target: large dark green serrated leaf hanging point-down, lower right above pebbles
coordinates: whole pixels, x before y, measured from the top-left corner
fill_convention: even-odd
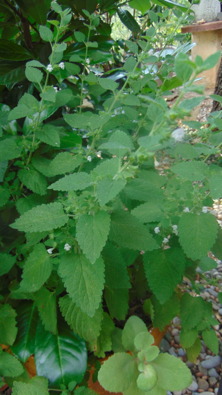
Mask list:
[[[181,282],[185,263],[186,257],[179,248],[158,249],[143,255],[147,281],[161,304],[171,297]]]

